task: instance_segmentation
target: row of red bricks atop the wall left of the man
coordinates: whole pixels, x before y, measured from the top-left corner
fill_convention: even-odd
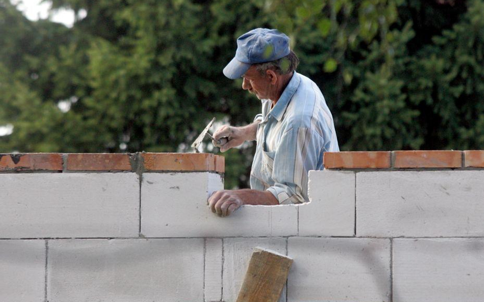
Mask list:
[[[225,158],[210,153],[0,154],[0,172],[21,171],[183,171],[224,173]]]

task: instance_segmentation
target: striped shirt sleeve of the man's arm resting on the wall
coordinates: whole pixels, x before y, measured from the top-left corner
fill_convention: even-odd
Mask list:
[[[273,155],[272,178],[274,185],[267,190],[279,204],[307,202],[309,170],[316,170],[324,146],[324,139],[309,128],[292,128],[282,134],[281,141]]]

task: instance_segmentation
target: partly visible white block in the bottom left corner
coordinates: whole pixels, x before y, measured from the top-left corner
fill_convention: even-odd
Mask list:
[[[44,301],[45,250],[45,240],[0,240],[0,301]]]

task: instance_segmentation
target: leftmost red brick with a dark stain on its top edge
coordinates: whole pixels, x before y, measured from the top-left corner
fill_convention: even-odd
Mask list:
[[[0,154],[0,171],[61,171],[62,154]]]

